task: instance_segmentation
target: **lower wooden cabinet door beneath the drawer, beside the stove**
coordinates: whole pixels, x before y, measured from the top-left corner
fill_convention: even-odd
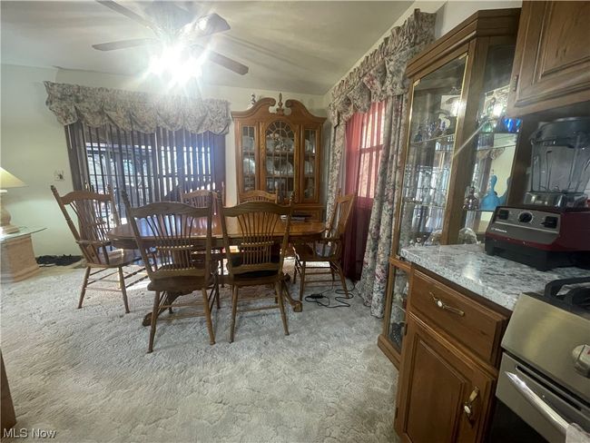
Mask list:
[[[402,441],[482,439],[494,392],[492,375],[411,312],[401,362],[395,428]]]

